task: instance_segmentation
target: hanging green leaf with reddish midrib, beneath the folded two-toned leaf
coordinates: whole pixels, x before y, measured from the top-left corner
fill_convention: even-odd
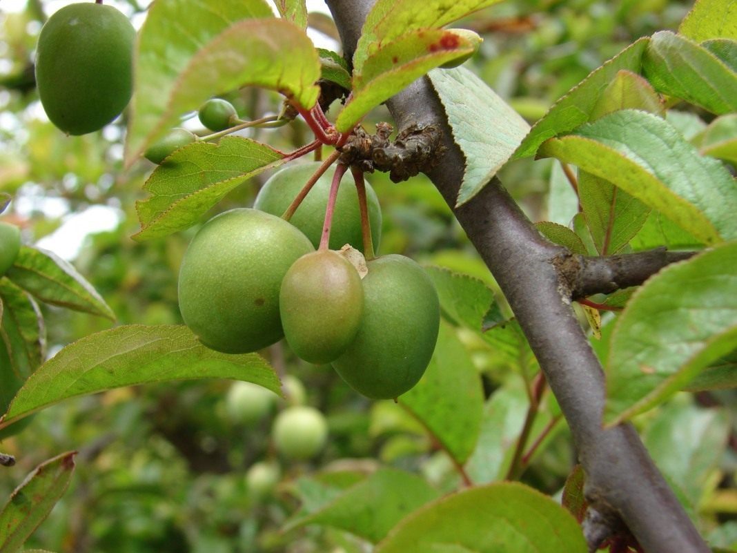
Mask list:
[[[579,171],[579,198],[596,251],[616,254],[632,240],[651,209],[605,178]]]

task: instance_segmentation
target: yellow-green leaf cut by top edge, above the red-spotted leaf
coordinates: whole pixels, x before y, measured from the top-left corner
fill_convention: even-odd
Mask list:
[[[387,42],[419,29],[439,29],[500,0],[379,0],[366,15],[353,68],[361,72],[366,60]]]

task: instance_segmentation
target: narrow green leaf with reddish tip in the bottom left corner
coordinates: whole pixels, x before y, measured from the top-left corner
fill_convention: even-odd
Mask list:
[[[76,451],[41,463],[0,511],[0,553],[15,553],[49,515],[74,473]]]

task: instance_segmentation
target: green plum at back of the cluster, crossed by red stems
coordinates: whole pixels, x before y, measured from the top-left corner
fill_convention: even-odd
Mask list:
[[[293,164],[274,173],[256,196],[254,208],[281,216],[320,165],[319,161]],[[320,245],[325,207],[334,173],[335,166],[330,167],[319,178],[290,219],[290,223],[312,240],[315,248]],[[371,241],[374,243],[374,251],[378,251],[381,240],[381,208],[376,192],[368,183],[366,183],[366,201],[368,218],[371,221]],[[363,251],[358,194],[350,175],[344,176],[340,184],[330,231],[329,248],[339,250],[346,244]]]

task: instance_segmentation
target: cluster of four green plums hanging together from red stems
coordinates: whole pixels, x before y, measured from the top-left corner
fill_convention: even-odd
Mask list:
[[[367,397],[394,398],[411,389],[430,362],[439,329],[439,300],[425,271],[401,255],[368,260],[368,272],[335,251],[362,243],[355,187],[340,188],[329,247],[318,250],[332,173],[313,187],[290,222],[279,217],[318,163],[280,170],[254,209],[209,220],[184,254],[179,307],[184,322],[212,349],[254,352],[279,341],[300,358],[332,364]],[[374,248],[381,213],[366,187]]]

